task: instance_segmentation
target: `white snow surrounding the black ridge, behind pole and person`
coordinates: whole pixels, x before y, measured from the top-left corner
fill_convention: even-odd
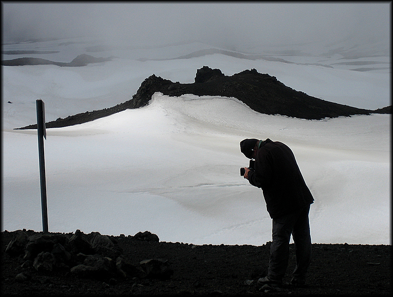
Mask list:
[[[65,61],[70,61],[83,53],[113,54],[92,54],[53,41],[4,47],[60,53],[2,59],[37,56],[60,61],[56,56],[65,53]],[[153,73],[194,82],[197,69],[206,65],[225,75],[255,68],[311,96],[359,108],[390,105],[389,72],[309,65],[321,59],[315,55],[307,63],[224,54],[137,60],[176,57],[204,47],[128,49],[117,51],[113,61],[84,67],[1,66],[1,229],[42,230],[37,132],[13,130],[36,123],[37,99],[45,103],[48,122],[130,100]],[[333,65],[339,57],[324,59]],[[166,242],[264,244],[271,241],[271,218],[262,191],[239,174],[249,162],[239,142],[270,138],[293,150],[314,196],[309,214],[313,243],[391,244],[390,134],[387,114],[310,121],[261,114],[236,98],[155,93],[143,108],[47,129],[49,231],[80,229],[118,236],[148,230]]]

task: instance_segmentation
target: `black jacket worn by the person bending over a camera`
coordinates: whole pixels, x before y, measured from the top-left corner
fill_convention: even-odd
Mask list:
[[[261,188],[271,218],[286,215],[313,203],[291,149],[269,138],[256,152],[255,170],[249,171],[251,185]]]

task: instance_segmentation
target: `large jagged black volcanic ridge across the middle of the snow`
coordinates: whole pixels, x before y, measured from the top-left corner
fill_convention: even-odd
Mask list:
[[[112,115],[128,108],[140,108],[149,103],[155,92],[176,97],[184,94],[234,97],[260,113],[279,114],[308,120],[391,113],[392,110],[392,106],[370,110],[318,99],[284,85],[276,77],[258,73],[255,69],[225,76],[220,69],[203,66],[197,70],[194,83],[172,82],[153,74],[141,83],[131,100],[112,108],[86,111],[66,118],[58,118],[45,125],[46,128],[72,126]],[[37,124],[17,129],[37,129]]]

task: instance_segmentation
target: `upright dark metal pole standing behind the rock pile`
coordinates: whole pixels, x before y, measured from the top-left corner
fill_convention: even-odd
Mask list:
[[[44,157],[44,136],[45,131],[45,111],[42,100],[36,101],[37,108],[37,134],[38,134],[38,157],[40,163],[40,185],[41,185],[41,209],[42,209],[42,230],[48,233],[48,208],[46,199],[46,178],[45,178],[45,157]]]

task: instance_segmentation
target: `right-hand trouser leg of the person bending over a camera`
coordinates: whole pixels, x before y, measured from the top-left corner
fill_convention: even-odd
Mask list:
[[[309,227],[310,206],[305,207],[293,226],[292,237],[295,243],[296,268],[293,271],[294,281],[304,282],[311,261],[311,236]]]

